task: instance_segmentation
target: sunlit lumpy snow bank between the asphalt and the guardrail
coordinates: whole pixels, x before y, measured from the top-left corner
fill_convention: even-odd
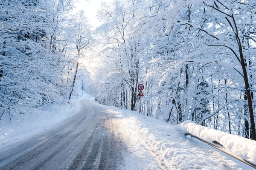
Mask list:
[[[143,162],[144,152],[148,152],[155,158],[157,164],[164,167],[161,169],[253,169],[201,141],[185,136],[182,131],[169,123],[133,111],[103,105],[101,107],[118,119],[119,128],[122,128],[120,131],[125,132],[122,134],[123,138],[138,136],[140,142],[137,139],[131,139],[130,142],[135,141],[141,143],[140,147],[145,147],[146,151],[137,152],[137,157],[142,158],[139,161]],[[126,133],[127,130],[129,133]],[[133,145],[136,146],[136,144]],[[134,150],[138,150],[137,147],[134,147]],[[149,169],[155,168],[152,166]]]

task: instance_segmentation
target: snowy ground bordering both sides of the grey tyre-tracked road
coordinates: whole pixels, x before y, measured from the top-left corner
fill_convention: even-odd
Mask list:
[[[119,164],[117,169],[253,169],[207,144],[185,136],[184,132],[166,122],[137,112],[99,105],[90,97],[75,99],[71,106],[50,105],[48,109],[44,108],[41,114],[30,116],[26,121],[19,120],[12,125],[1,123],[0,149],[25,136],[41,133],[73,116],[81,110],[82,103],[106,113],[109,119],[106,119],[105,127],[122,140],[124,147],[120,154],[123,163]]]

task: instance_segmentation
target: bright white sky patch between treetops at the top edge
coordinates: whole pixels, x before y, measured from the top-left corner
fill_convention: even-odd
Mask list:
[[[97,21],[97,11],[100,8],[100,3],[104,0],[78,0],[75,3],[75,10],[80,11],[81,9],[84,10],[87,19],[89,20],[90,24],[95,28],[99,26],[99,21]],[[112,0],[105,0],[105,2],[111,2]]]

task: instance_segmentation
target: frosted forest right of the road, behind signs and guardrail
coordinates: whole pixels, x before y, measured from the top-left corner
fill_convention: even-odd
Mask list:
[[[256,139],[254,0],[114,0],[98,17],[99,103]]]

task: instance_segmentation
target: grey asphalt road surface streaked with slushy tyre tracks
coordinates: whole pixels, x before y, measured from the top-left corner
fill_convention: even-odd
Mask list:
[[[124,145],[104,109],[83,103],[80,113],[0,150],[1,170],[115,170]]]

